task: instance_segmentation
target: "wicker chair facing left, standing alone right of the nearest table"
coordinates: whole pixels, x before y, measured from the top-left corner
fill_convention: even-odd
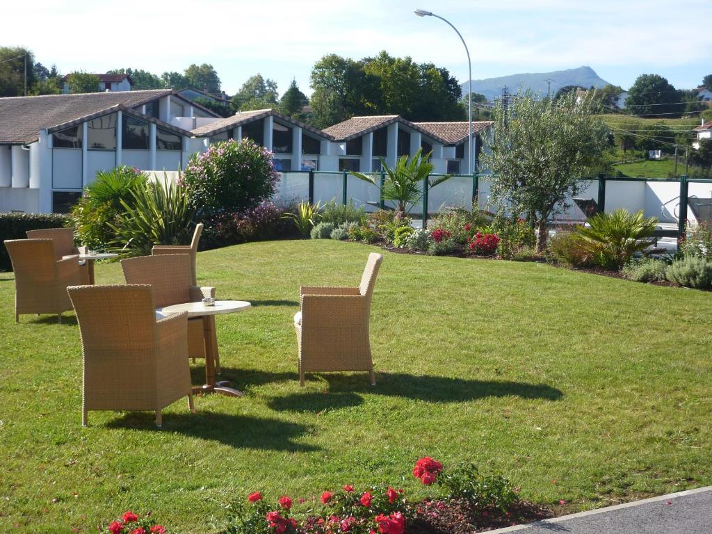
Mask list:
[[[368,256],[357,288],[302,287],[294,316],[299,350],[299,384],[315,371],[368,371],[376,383],[371,357],[371,298],[383,256]]]

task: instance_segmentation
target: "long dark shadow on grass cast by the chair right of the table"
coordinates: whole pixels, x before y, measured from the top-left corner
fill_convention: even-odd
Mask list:
[[[486,397],[520,397],[557,401],[564,396],[559,389],[548,384],[525,382],[377,373],[376,385],[371,386],[365,374],[320,376],[328,382],[328,392],[293,393],[285,397],[273,397],[268,402],[268,406],[277,411],[323,412],[325,409],[340,409],[362,404],[363,397],[360,393],[404,397],[425,402],[466,402]]]

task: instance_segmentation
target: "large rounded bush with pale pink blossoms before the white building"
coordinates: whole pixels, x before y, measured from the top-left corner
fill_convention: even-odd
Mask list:
[[[247,139],[192,155],[181,177],[203,219],[255,209],[272,197],[278,179],[271,152]]]

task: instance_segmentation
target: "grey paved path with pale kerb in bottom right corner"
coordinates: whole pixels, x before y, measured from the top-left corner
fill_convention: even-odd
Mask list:
[[[712,487],[493,530],[520,534],[712,534]]]

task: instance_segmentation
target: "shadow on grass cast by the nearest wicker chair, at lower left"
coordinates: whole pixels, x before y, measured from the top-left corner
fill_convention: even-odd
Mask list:
[[[239,402],[239,399],[234,399]],[[184,399],[179,401],[184,402]],[[250,417],[246,415],[207,412],[200,409],[200,399],[196,399],[197,412],[191,414],[167,413],[163,415],[163,426],[156,427],[153,412],[127,412],[113,419],[106,426],[110,429],[132,429],[156,432],[177,432],[185,436],[220,441],[236,449],[262,449],[271,451],[310,452],[319,447],[295,443],[293,440],[310,433],[303,424]]]

